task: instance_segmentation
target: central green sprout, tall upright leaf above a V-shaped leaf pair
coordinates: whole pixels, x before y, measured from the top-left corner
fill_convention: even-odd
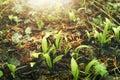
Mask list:
[[[54,56],[57,48],[54,46],[54,44],[51,44],[51,46],[48,47],[48,43],[46,39],[47,37],[49,37],[49,35],[44,36],[42,39],[42,51],[43,51],[42,55],[45,58],[48,67],[52,69],[54,64],[58,62],[63,57],[63,55],[55,56],[54,59],[51,58],[50,55]]]

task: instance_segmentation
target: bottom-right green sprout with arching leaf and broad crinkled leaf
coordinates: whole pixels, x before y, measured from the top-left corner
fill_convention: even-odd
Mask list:
[[[91,68],[94,69],[94,72],[90,72]],[[88,75],[85,80],[89,80],[91,77],[91,74],[94,74],[94,78],[98,75],[101,75],[102,77],[105,77],[108,74],[108,71],[106,69],[106,66],[104,63],[99,63],[98,60],[93,59],[91,62],[88,63],[88,65],[85,68],[85,74]]]

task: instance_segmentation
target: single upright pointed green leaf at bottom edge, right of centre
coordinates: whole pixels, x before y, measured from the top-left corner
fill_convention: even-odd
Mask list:
[[[79,67],[76,60],[72,57],[71,59],[71,73],[74,77],[74,80],[78,80],[79,78]]]

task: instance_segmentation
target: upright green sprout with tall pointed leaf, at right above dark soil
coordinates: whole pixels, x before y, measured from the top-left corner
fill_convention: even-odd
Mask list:
[[[109,19],[106,18],[106,25],[103,32],[98,32],[97,30],[95,30],[94,37],[97,38],[101,45],[104,45],[105,43],[111,41],[111,37],[108,37],[109,29],[111,28],[110,23],[111,22],[109,21]]]

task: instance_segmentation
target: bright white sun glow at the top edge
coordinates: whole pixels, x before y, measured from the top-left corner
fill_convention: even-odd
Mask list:
[[[54,9],[69,7],[73,0],[27,0],[27,4],[34,9]]]

